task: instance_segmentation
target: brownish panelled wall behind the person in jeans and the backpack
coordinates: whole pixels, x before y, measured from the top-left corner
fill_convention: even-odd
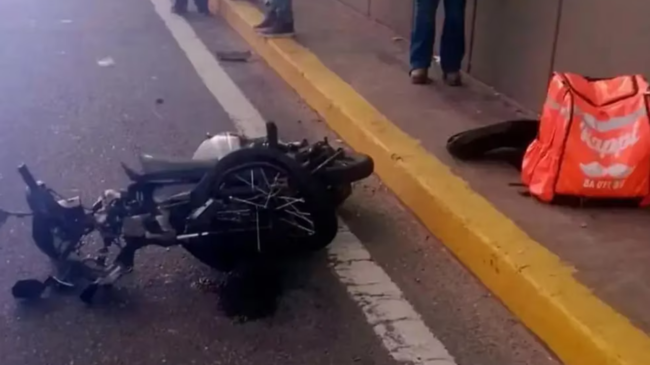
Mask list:
[[[413,0],[339,1],[408,39]],[[647,14],[647,0],[467,0],[463,69],[539,111],[552,70],[593,77],[650,75]],[[437,19],[440,30],[443,6]]]

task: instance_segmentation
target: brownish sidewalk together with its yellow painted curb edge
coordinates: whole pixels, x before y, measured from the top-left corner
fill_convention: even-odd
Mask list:
[[[471,82],[412,86],[408,40],[335,0],[294,2],[296,40],[258,38],[248,3],[212,6],[560,359],[650,364],[647,212],[542,205],[511,167],[454,161],[448,136],[525,111]]]

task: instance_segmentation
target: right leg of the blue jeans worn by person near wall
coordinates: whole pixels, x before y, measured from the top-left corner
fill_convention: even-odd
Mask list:
[[[444,0],[445,25],[440,42],[440,66],[444,73],[460,71],[465,56],[465,0]]]

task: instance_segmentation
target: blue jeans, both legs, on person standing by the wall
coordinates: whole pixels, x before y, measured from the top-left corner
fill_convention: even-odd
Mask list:
[[[443,0],[445,24],[440,42],[443,72],[456,72],[465,55],[465,0]],[[411,69],[430,68],[434,57],[435,12],[440,0],[415,0],[411,32]]]

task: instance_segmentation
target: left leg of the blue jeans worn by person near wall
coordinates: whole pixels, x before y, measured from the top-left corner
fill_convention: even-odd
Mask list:
[[[411,31],[411,69],[427,69],[434,57],[435,10],[439,0],[415,0]]]

